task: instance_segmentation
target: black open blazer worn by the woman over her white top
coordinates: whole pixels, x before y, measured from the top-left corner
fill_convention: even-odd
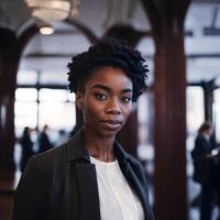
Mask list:
[[[153,220],[141,164],[117,142],[114,153],[141,200],[145,220]],[[90,163],[82,131],[67,143],[31,157],[16,188],[12,219],[100,220],[96,167]]]

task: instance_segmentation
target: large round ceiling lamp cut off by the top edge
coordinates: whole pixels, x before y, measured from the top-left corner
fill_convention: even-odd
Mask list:
[[[43,21],[62,21],[79,15],[80,0],[25,0],[32,15]]]

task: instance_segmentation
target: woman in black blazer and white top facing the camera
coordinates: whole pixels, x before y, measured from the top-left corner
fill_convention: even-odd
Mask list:
[[[68,67],[84,127],[30,160],[13,220],[153,220],[144,170],[116,141],[146,88],[144,59],[124,42],[106,40]]]

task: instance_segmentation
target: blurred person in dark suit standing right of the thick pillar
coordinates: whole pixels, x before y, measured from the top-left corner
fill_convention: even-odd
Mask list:
[[[211,152],[215,145],[211,143],[212,125],[204,122],[195,140],[195,148],[191,152],[194,161],[194,180],[201,185],[200,220],[211,220],[212,202],[216,191],[216,158]]]

